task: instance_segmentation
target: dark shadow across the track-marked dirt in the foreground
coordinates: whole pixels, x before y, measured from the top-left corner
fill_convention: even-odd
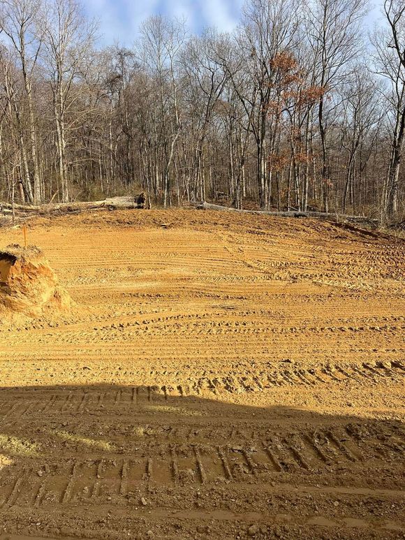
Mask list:
[[[0,538],[403,533],[402,423],[176,392],[1,388]]]

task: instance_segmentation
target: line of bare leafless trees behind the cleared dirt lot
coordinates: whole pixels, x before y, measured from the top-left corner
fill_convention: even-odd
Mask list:
[[[0,1],[0,196],[404,214],[405,5],[248,0],[98,46],[76,0]]]

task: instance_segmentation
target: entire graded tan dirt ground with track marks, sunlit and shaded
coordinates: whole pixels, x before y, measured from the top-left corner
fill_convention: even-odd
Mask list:
[[[404,240],[195,210],[28,237],[75,308],[0,324],[1,540],[404,537]]]

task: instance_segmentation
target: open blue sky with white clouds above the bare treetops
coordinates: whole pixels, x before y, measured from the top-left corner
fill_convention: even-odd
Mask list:
[[[140,23],[149,15],[184,16],[195,33],[215,26],[231,31],[237,25],[244,0],[83,0],[85,10],[100,23],[101,43],[132,45]],[[369,22],[378,17],[378,5],[369,15]],[[375,5],[375,4],[374,4]]]

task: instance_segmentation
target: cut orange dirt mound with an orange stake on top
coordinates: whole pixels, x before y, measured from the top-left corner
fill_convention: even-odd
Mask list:
[[[44,309],[65,311],[71,298],[36,246],[9,245],[0,251],[0,309],[38,316]]]

